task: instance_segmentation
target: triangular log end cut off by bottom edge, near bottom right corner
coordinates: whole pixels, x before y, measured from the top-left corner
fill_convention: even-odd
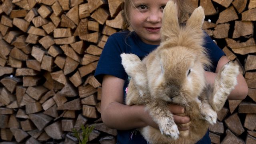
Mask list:
[[[221,142],[222,144],[245,144],[245,142],[235,136],[230,130],[226,130],[226,136]]]

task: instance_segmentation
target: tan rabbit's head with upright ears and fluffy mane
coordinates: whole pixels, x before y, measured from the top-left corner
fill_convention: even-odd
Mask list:
[[[168,1],[163,12],[161,44],[146,63],[152,96],[183,103],[195,100],[206,85],[204,68],[210,60],[202,47],[204,10],[198,7],[186,26],[180,26],[176,4]]]

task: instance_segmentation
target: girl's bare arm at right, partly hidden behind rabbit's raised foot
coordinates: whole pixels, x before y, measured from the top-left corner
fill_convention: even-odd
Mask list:
[[[229,62],[228,58],[226,56],[222,56],[220,60],[218,61],[218,65],[216,68],[216,73],[214,72],[205,72],[206,74],[206,80],[209,84],[214,83],[214,79],[218,73],[218,71],[222,68],[224,64]],[[237,85],[235,86],[235,89],[231,91],[230,95],[228,96],[229,100],[243,100],[248,94],[248,86],[246,84],[246,81],[244,80],[244,77],[242,74],[238,74],[237,76]]]

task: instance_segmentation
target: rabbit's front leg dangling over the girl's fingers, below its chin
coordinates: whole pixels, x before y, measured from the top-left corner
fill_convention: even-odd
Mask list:
[[[168,110],[165,102],[155,100],[151,104],[147,104],[146,108],[150,112],[150,116],[154,122],[158,124],[161,134],[176,140],[179,138],[179,130],[174,122],[173,114]]]

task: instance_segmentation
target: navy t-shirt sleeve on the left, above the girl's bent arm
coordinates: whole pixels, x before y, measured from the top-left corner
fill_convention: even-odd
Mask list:
[[[123,53],[121,47],[124,45],[120,42],[122,38],[117,38],[117,34],[110,36],[103,48],[102,54],[100,55],[100,60],[94,73],[95,78],[100,83],[102,83],[104,75],[112,75],[122,79],[125,79],[126,77],[120,57],[120,54]]]

